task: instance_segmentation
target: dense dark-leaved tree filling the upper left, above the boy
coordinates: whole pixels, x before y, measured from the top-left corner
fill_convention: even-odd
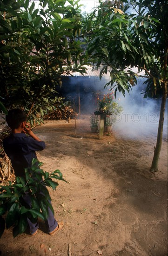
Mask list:
[[[0,101],[7,109],[43,116],[61,103],[60,75],[86,72],[78,1],[68,2],[0,0]]]

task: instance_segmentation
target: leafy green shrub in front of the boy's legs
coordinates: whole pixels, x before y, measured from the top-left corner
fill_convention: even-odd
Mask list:
[[[32,167],[25,169],[25,178],[16,177],[16,182],[9,181],[8,186],[0,186],[0,236],[2,236],[5,226],[9,229],[14,225],[13,237],[18,236],[27,229],[27,217],[35,221],[38,217],[47,219],[48,207],[53,211],[52,205],[48,202],[50,195],[46,187],[56,189],[58,182],[52,180],[65,181],[59,170],[51,174],[40,169],[42,162],[33,159]],[[42,192],[42,194],[40,193]],[[28,193],[31,197],[32,208],[29,209],[23,201],[22,196]],[[40,200],[35,194],[40,194]]]

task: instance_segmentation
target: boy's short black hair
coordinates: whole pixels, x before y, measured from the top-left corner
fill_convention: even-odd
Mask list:
[[[26,121],[26,118],[26,113],[19,108],[9,110],[6,115],[7,124],[12,130],[18,128],[23,121]]]

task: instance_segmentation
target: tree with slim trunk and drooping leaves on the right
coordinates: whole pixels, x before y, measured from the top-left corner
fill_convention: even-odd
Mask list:
[[[102,2],[83,21],[87,53],[101,66],[100,77],[109,69],[110,85],[125,95],[146,77],[148,95],[162,95],[157,143],[151,172],[158,170],[166,99],[168,96],[168,1],[123,0]],[[84,33],[83,32],[83,33]],[[137,68],[134,72],[133,67]]]

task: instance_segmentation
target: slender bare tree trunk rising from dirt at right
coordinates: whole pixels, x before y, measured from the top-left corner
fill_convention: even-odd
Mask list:
[[[165,113],[167,96],[168,96],[168,82],[165,82],[164,87],[163,87],[163,97],[162,97],[162,101],[161,101],[161,111],[160,111],[159,126],[158,126],[158,133],[157,133],[157,142],[156,142],[156,147],[155,147],[155,151],[154,151],[154,157],[152,160],[152,166],[150,168],[151,172],[158,171],[158,162],[159,162],[159,155],[161,152],[164,113]]]

